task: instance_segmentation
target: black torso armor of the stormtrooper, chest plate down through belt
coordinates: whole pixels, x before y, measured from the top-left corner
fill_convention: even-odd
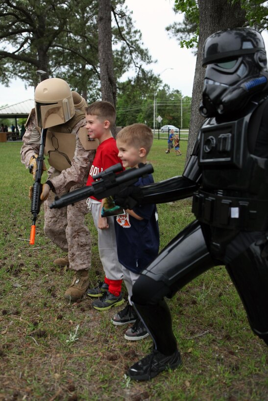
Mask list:
[[[267,229],[268,159],[251,154],[248,146],[250,135],[258,136],[260,126],[253,117],[257,107],[252,102],[237,120],[211,118],[201,128],[202,186],[193,199],[193,212],[200,222],[227,229]]]

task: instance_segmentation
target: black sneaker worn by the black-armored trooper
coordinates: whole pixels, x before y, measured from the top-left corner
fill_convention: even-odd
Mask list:
[[[164,370],[175,369],[181,365],[182,360],[178,350],[170,356],[153,350],[151,354],[134,363],[127,374],[133,380],[150,380]]]

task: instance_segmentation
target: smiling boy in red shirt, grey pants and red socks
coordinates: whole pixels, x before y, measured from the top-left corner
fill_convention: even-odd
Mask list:
[[[86,109],[88,135],[90,138],[97,138],[99,141],[87,185],[92,185],[93,176],[115,164],[122,164],[121,159],[118,157],[116,140],[110,130],[115,123],[115,119],[115,108],[109,102],[95,102]],[[113,216],[101,217],[104,200],[97,200],[92,196],[87,202],[97,228],[98,252],[105,272],[104,282],[99,283],[96,288],[88,289],[87,295],[101,297],[96,299],[92,306],[98,311],[106,311],[112,306],[119,306],[124,302],[121,293],[123,274],[117,256],[114,218]]]

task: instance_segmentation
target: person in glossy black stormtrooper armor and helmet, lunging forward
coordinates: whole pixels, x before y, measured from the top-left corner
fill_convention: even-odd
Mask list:
[[[154,342],[128,375],[148,380],[181,364],[164,297],[224,264],[249,324],[268,344],[268,72],[254,29],[219,31],[203,49],[207,117],[182,177],[141,188],[141,203],[193,196],[196,220],[141,273],[133,304]],[[132,194],[135,198],[135,195]]]

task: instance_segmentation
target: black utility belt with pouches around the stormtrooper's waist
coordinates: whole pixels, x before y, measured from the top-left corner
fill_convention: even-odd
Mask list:
[[[193,196],[192,211],[197,220],[221,228],[266,231],[268,201],[227,197],[198,191]]]

